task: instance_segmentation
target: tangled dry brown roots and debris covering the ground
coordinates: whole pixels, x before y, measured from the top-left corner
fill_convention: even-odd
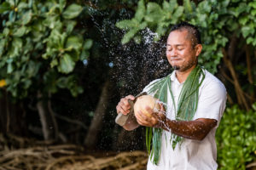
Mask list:
[[[72,144],[3,150],[0,151],[0,170],[143,170],[148,159],[143,151],[96,158],[79,154],[81,150]]]

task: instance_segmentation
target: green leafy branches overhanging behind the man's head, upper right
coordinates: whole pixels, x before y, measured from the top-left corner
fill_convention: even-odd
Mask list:
[[[145,4],[141,0],[135,17],[119,21],[116,26],[127,31],[122,39],[122,43],[125,43],[131,41],[131,38],[137,42],[139,32],[145,26],[155,31],[155,40],[159,40],[168,34],[172,25],[182,20],[189,21],[201,30],[203,51],[199,62],[215,73],[223,57],[222,48],[229,42],[233,32],[236,32],[237,37],[246,39],[247,44],[256,46],[255,14],[256,1],[249,0],[210,0],[198,4],[183,0],[182,5],[177,0],[163,1],[162,4]]]

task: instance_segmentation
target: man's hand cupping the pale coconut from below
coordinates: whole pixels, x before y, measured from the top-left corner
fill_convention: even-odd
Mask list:
[[[166,122],[165,108],[161,104],[158,105],[160,105],[160,111],[155,112],[150,107],[146,107],[146,111],[151,117],[145,116],[142,111],[138,111],[136,115],[137,122],[145,127],[162,127]]]

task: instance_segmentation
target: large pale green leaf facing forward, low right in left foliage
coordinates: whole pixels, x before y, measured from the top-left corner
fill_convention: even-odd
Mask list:
[[[73,71],[75,62],[69,54],[64,54],[61,56],[60,65],[58,66],[58,70],[62,73],[70,73]]]

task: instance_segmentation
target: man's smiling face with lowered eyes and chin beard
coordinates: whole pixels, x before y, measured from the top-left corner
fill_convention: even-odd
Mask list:
[[[166,57],[177,71],[187,71],[197,63],[197,56],[201,53],[201,44],[192,46],[191,36],[187,30],[172,31],[167,39]]]

